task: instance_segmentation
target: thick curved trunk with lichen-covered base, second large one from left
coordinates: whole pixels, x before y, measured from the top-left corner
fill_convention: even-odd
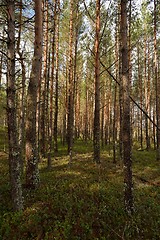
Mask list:
[[[35,42],[32,70],[27,95],[26,122],[26,185],[36,188],[39,182],[37,138],[36,138],[36,110],[37,89],[42,63],[42,0],[35,0]]]

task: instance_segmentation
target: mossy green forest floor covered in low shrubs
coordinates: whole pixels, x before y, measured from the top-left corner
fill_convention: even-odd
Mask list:
[[[93,162],[91,144],[75,145],[72,164],[65,149],[39,165],[40,185],[23,189],[24,210],[11,209],[7,154],[0,152],[0,239],[2,240],[158,240],[160,164],[155,151],[133,151],[134,206],[123,204],[123,165],[103,150]]]

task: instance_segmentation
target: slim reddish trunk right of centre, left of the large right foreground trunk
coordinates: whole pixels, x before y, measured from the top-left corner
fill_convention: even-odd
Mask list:
[[[94,161],[100,163],[100,0],[96,0],[96,35],[95,35],[95,110],[94,110]]]

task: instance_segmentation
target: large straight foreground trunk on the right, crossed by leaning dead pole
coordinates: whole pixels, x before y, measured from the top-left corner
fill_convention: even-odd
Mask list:
[[[130,136],[130,98],[127,47],[127,0],[121,0],[121,41],[122,41],[122,83],[123,83],[123,162],[124,162],[124,203],[128,213],[133,212],[133,183]]]

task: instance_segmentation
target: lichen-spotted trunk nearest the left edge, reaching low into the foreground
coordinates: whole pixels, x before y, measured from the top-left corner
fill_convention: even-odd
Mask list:
[[[7,1],[8,69],[7,69],[7,119],[9,142],[9,172],[13,210],[23,208],[21,186],[21,159],[16,124],[15,91],[15,1]]]

